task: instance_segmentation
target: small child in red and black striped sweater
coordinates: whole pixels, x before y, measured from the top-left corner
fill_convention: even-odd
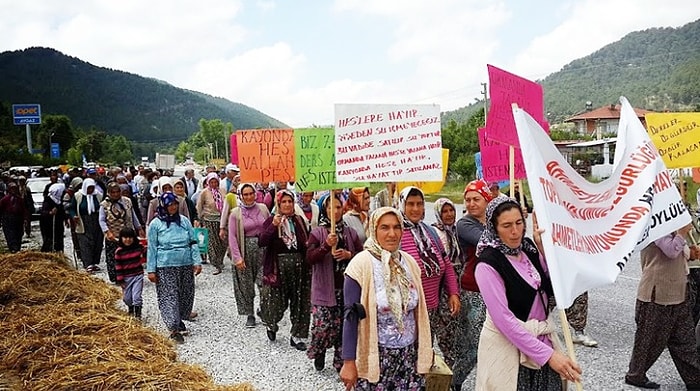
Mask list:
[[[117,284],[122,287],[124,303],[129,307],[129,315],[141,319],[143,292],[143,263],[146,248],[143,247],[132,228],[119,232],[119,247],[114,253],[117,270]]]

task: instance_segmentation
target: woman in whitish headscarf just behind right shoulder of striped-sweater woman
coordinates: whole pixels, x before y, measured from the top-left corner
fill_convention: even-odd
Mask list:
[[[435,222],[432,224],[432,227],[435,228],[435,232],[445,250],[445,260],[452,265],[455,276],[459,277],[462,272],[463,256],[457,240],[456,212],[457,209],[451,200],[447,198],[437,199],[434,208]],[[445,362],[452,368],[455,357],[460,353],[456,345],[457,336],[461,327],[466,326],[465,324],[460,324],[459,320],[464,318],[462,314],[467,312],[468,301],[466,296],[460,292],[460,311],[456,317],[452,316],[449,306],[449,295],[446,293],[445,290],[442,291],[438,306],[437,323],[439,324],[438,329],[441,331],[441,336],[438,335],[438,342],[442,343],[440,351],[445,358]]]

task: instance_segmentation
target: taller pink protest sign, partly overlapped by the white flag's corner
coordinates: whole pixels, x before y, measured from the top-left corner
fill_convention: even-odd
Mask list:
[[[530,114],[549,133],[549,124],[544,118],[542,86],[493,65],[487,65],[487,68],[491,107],[486,117],[486,137],[506,145],[520,145],[513,120],[513,103]]]

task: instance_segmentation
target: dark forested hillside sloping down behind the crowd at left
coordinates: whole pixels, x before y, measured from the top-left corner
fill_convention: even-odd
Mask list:
[[[40,103],[42,114],[65,114],[76,126],[134,141],[184,140],[200,118],[218,118],[236,129],[285,126],[241,103],[97,67],[49,48],[0,53],[0,75],[0,102]]]

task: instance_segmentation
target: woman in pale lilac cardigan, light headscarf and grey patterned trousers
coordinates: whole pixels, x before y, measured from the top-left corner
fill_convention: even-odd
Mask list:
[[[255,327],[253,300],[255,285],[260,287],[260,264],[263,249],[258,245],[265,219],[270,212],[264,204],[255,202],[255,188],[250,183],[238,185],[238,206],[228,221],[228,244],[233,261],[233,293],[238,315],[247,315],[246,327]]]

